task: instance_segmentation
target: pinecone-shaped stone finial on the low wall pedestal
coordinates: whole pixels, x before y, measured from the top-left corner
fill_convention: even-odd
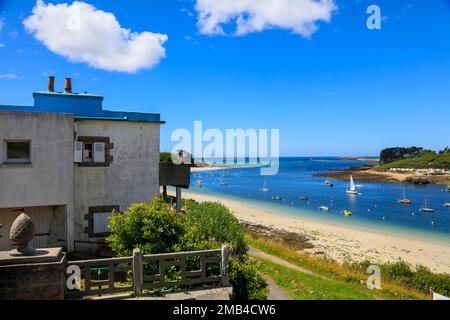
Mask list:
[[[17,246],[9,252],[11,256],[32,256],[36,250],[30,248],[28,243],[34,239],[35,229],[33,220],[25,213],[14,220],[14,223],[9,231],[9,239]]]

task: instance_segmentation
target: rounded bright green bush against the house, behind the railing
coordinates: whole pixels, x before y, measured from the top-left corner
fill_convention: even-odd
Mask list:
[[[132,204],[125,213],[114,213],[109,222],[111,249],[119,256],[177,251],[184,230],[184,217],[160,198],[151,204]]]

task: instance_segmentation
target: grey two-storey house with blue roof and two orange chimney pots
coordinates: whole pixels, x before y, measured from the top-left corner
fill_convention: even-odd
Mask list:
[[[33,106],[0,105],[0,250],[21,212],[36,247],[99,249],[113,210],[159,193],[160,115],[103,109],[103,97],[35,92]]]

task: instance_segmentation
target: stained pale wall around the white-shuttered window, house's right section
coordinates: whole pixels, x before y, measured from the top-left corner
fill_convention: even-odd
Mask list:
[[[114,144],[109,167],[75,164],[75,239],[90,240],[85,233],[89,207],[119,205],[125,211],[134,202],[151,202],[159,194],[160,125],[123,121],[83,120],[76,134],[109,137]],[[82,244],[77,244],[81,248]]]

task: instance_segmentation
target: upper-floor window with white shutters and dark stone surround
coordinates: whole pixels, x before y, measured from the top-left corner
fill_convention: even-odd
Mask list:
[[[79,137],[75,142],[75,163],[84,167],[108,167],[113,144],[105,137]]]

